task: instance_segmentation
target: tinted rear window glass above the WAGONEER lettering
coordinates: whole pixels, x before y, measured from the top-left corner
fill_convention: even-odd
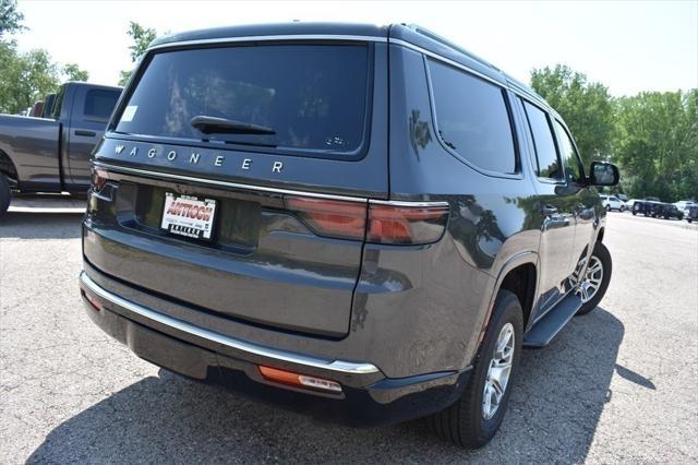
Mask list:
[[[263,45],[156,53],[116,131],[231,144],[352,153],[362,145],[366,45]],[[219,128],[194,117],[254,124],[274,133]]]

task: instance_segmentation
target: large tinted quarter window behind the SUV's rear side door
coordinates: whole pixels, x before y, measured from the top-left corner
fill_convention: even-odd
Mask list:
[[[503,91],[435,61],[430,60],[429,69],[443,143],[479,168],[515,172],[516,154]]]

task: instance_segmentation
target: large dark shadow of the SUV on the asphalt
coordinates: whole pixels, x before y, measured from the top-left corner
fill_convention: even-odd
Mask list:
[[[327,425],[160,370],[58,426],[28,462],[583,462],[623,335],[598,308],[547,348],[526,350],[504,426],[479,451],[441,442],[423,421]]]

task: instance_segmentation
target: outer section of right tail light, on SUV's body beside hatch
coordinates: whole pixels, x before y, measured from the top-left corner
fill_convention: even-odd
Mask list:
[[[430,243],[444,234],[448,204],[369,206],[366,240],[377,243]]]

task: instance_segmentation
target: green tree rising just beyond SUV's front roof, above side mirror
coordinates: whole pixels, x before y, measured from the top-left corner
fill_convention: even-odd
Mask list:
[[[556,64],[531,72],[531,87],[557,110],[571,131],[585,166],[606,159],[614,131],[613,100],[601,83]]]

